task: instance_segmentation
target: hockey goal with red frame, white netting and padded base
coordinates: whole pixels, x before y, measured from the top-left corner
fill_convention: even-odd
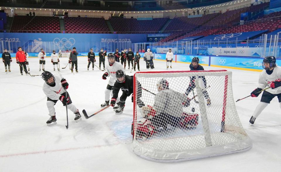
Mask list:
[[[133,95],[132,149],[145,159],[184,161],[252,146],[234,105],[230,71],[137,72]]]

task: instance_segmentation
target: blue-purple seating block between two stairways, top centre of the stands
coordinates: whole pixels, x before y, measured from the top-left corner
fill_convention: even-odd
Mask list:
[[[150,34],[157,33],[168,19],[153,18],[153,20],[137,20],[136,18],[111,18],[109,21],[116,33]]]

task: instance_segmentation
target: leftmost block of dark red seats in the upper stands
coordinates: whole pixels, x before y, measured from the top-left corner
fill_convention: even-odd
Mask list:
[[[60,33],[59,18],[45,16],[16,15],[11,32],[20,33]]]

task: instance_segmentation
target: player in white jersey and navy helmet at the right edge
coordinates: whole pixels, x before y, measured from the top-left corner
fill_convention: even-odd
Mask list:
[[[250,123],[254,124],[256,118],[270,103],[270,101],[277,96],[281,108],[281,67],[276,65],[276,58],[274,56],[267,56],[263,59],[263,71],[258,78],[258,88],[251,92],[251,97],[258,97],[262,89],[271,87],[263,91],[261,102],[253,112]],[[258,93],[259,92],[259,93]]]

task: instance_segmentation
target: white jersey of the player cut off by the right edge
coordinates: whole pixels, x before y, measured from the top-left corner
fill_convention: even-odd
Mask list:
[[[258,78],[258,88],[266,88],[269,87],[270,84],[274,81],[281,81],[281,67],[277,66],[273,69],[272,74],[267,74],[266,70],[263,70]],[[267,90],[268,93],[271,94],[280,94],[281,93],[281,87],[277,88],[269,88]]]

